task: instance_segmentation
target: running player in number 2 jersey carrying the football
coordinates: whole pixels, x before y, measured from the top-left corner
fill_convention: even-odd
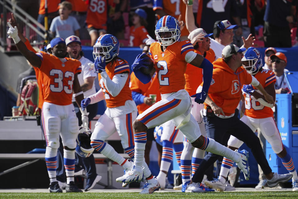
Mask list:
[[[156,69],[161,100],[138,115],[133,122],[135,139],[135,161],[133,169],[124,176],[116,179],[117,182],[140,181],[143,175],[144,149],[147,140],[146,130],[172,120],[175,126],[183,132],[189,142],[196,148],[210,151],[235,160],[240,169],[247,175],[249,173],[247,152],[235,152],[215,142],[213,139],[201,135],[196,119],[190,113],[191,99],[184,90],[187,63],[203,68],[204,84],[200,93],[192,95],[195,102],[203,103],[212,79],[212,64],[203,56],[193,52],[193,46],[189,41],[180,41],[180,25],[173,16],[163,16],[156,24],[156,39],[150,46],[151,58],[138,55],[132,64],[132,70],[142,83],[151,80],[151,75],[144,74],[140,68],[148,68],[148,64],[154,64]],[[151,60],[152,59],[152,60]],[[154,61],[153,61],[154,60]]]

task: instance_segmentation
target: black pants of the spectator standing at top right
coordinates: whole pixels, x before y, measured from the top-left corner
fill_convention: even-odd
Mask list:
[[[264,22],[265,47],[292,47],[291,30],[289,26],[278,27]]]

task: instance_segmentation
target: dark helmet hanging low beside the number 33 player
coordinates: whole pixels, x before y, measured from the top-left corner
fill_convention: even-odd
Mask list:
[[[83,158],[89,157],[94,151],[94,148],[90,145],[90,137],[91,130],[80,126],[75,152]]]

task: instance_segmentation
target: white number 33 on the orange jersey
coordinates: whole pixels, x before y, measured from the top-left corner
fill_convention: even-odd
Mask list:
[[[58,69],[52,69],[50,71],[50,76],[56,76],[56,75],[58,75],[58,77],[54,78],[54,82],[57,83],[58,86],[56,86],[55,84],[50,84],[50,90],[52,92],[61,92],[64,89],[65,93],[71,94],[75,74],[73,72],[70,72],[70,71],[66,71],[64,73],[65,78],[70,78],[67,81],[67,83],[68,83],[67,86],[63,86],[63,72],[61,70],[58,70]]]

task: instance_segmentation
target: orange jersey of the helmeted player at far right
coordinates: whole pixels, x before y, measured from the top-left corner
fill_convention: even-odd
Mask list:
[[[269,84],[276,82],[275,74],[270,70],[262,70],[255,74],[255,78],[265,88]],[[254,87],[255,92],[258,90]],[[269,118],[273,117],[273,111],[270,107],[261,104],[254,96],[242,92],[245,97],[245,115],[251,118]]]

